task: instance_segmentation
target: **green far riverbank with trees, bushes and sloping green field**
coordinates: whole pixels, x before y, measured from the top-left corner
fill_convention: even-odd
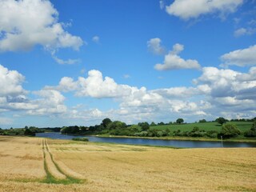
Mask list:
[[[155,124],[152,122],[139,122],[137,125],[126,125],[125,122],[114,121],[110,118],[102,120],[96,126],[65,126],[62,127],[62,134],[76,135],[99,135],[115,137],[139,137],[139,138],[196,138],[191,140],[242,140],[256,142],[256,119],[245,122],[214,122],[199,121],[196,123],[177,122]],[[222,120],[222,118],[221,118]]]

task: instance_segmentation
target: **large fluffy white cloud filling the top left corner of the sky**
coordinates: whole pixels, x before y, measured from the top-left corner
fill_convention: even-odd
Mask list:
[[[82,39],[69,34],[58,22],[58,11],[48,0],[0,1],[0,51],[71,47],[78,50]]]

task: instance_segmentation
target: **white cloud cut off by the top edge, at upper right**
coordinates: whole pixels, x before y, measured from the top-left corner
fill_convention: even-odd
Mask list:
[[[198,18],[202,14],[233,13],[243,0],[175,0],[170,6],[166,6],[166,12],[178,18],[188,20]]]

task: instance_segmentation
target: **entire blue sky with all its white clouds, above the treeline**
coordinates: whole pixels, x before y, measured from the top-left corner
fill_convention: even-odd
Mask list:
[[[254,0],[0,0],[0,127],[256,116]]]

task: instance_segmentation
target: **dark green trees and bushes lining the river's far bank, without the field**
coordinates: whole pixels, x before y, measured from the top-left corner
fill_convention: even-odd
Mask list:
[[[223,120],[224,119],[224,120]],[[137,137],[166,137],[166,136],[178,136],[178,137],[204,137],[204,138],[234,138],[238,136],[244,136],[246,138],[256,137],[256,119],[254,118],[253,125],[250,130],[242,133],[238,127],[230,122],[226,123],[225,118],[218,118],[216,122],[222,125],[221,131],[217,130],[200,130],[197,126],[193,130],[174,130],[170,131],[170,128],[165,130],[159,130],[154,128],[157,126],[154,122],[149,124],[148,122],[139,122],[137,125],[126,125],[125,122],[114,121],[110,118],[102,120],[100,125],[96,126],[65,126],[62,127],[62,134],[79,134],[79,135],[95,135],[95,134],[109,134],[117,136],[137,136]],[[176,122],[181,124],[180,120]]]

